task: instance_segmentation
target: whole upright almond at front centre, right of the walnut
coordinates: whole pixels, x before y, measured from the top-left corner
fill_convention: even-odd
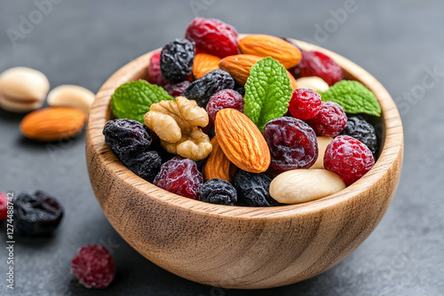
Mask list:
[[[262,173],[270,166],[266,139],[245,114],[235,109],[222,109],[216,114],[214,129],[220,148],[236,167]]]

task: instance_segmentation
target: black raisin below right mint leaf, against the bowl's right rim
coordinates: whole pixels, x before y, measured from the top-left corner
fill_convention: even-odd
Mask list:
[[[377,133],[375,128],[361,115],[350,115],[341,135],[353,136],[362,144],[366,144],[369,150],[377,152]]]

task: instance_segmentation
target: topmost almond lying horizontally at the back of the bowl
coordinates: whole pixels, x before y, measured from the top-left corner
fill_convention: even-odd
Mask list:
[[[302,53],[291,43],[271,35],[248,35],[239,40],[242,53],[277,59],[285,68],[297,66]]]

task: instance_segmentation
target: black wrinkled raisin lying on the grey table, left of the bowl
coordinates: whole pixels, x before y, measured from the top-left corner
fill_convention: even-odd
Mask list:
[[[23,236],[45,236],[55,230],[63,217],[59,202],[44,191],[20,193],[14,200],[13,226]]]

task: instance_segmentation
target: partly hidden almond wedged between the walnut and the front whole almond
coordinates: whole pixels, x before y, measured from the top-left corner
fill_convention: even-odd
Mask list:
[[[234,175],[236,175],[238,168],[228,160],[225,153],[218,144],[218,136],[213,136],[211,139],[213,150],[210,157],[203,166],[202,173],[205,181],[212,178],[218,178],[233,183]]]

